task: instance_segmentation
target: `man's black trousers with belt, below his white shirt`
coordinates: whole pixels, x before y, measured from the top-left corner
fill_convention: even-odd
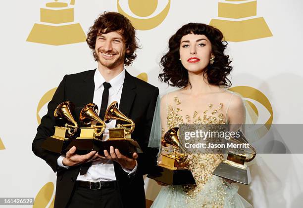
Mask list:
[[[105,187],[91,190],[75,187],[67,208],[122,208],[118,187]]]

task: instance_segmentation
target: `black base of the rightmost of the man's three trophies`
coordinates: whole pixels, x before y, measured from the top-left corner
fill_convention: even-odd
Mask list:
[[[101,142],[98,154],[104,156],[103,150],[107,150],[107,152],[109,152],[110,146],[118,149],[122,155],[125,155],[128,158],[132,158],[134,152],[143,153],[137,141],[128,139],[116,139]]]

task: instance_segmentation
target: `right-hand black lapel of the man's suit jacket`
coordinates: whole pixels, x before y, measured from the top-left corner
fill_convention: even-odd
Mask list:
[[[122,88],[121,99],[119,103],[119,110],[129,118],[130,110],[132,108],[134,99],[136,97],[136,92],[134,89],[136,88],[136,84],[133,81],[133,76],[131,76],[125,70],[125,79]]]

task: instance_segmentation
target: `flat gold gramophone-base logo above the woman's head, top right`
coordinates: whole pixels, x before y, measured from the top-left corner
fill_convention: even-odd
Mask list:
[[[256,17],[256,0],[225,1],[235,2],[219,2],[218,17],[221,19],[212,19],[209,25],[220,29],[226,41],[242,42],[272,36],[264,18]],[[241,18],[245,19],[239,20]]]

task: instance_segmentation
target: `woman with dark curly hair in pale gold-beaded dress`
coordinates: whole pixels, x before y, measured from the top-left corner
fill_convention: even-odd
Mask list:
[[[160,101],[162,133],[179,124],[244,124],[242,98],[226,91],[232,67],[224,54],[227,42],[211,26],[189,23],[169,40],[169,51],[161,58],[162,82],[179,89]],[[225,88],[225,89],[224,89]],[[153,126],[154,128],[154,126]],[[151,137],[150,146],[159,143]],[[162,147],[162,151],[171,151]],[[195,186],[163,185],[152,208],[244,208],[250,206],[237,194],[238,189],[212,175],[222,162],[222,154],[189,154],[189,169]],[[159,159],[160,160],[160,159]]]

